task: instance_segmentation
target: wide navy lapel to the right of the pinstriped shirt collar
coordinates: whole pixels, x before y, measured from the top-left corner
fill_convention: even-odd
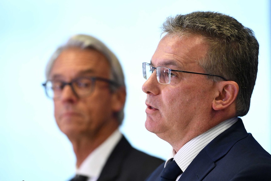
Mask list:
[[[242,120],[239,120],[229,129],[219,134],[195,157],[179,181],[199,181],[213,170],[215,162],[225,156],[231,147],[240,139],[247,136]]]

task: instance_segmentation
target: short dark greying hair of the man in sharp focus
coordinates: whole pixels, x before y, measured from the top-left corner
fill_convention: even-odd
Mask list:
[[[228,15],[209,11],[169,17],[162,30],[169,36],[200,35],[204,38],[209,49],[206,57],[196,62],[207,74],[225,77],[239,85],[236,116],[245,116],[258,70],[259,44],[254,32]],[[208,78],[219,80],[214,76]]]

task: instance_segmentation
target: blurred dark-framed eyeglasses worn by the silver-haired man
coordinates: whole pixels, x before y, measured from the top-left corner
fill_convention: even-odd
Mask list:
[[[81,98],[93,92],[96,81],[108,82],[111,85],[119,86],[117,82],[101,77],[78,77],[73,79],[71,82],[65,82],[61,80],[47,80],[42,85],[44,86],[46,95],[49,98],[59,98],[66,85],[69,85],[73,93],[77,97]]]

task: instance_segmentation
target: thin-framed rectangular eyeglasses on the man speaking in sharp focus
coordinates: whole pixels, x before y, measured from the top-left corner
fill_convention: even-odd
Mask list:
[[[211,75],[211,74],[203,74],[203,73],[197,73],[197,72],[177,71],[177,70],[171,70],[171,69],[169,69],[167,67],[161,67],[161,66],[153,67],[151,64],[148,64],[146,62],[144,62],[143,65],[142,65],[143,77],[145,79],[148,79],[152,75],[152,73],[154,72],[154,69],[156,69],[156,77],[157,77],[157,80],[158,80],[158,82],[160,84],[169,84],[170,83],[171,77],[174,76],[171,73],[171,71],[191,73],[191,74],[200,74],[200,75],[206,75],[206,76],[216,76],[216,77],[222,78],[224,81],[227,81],[222,76]]]

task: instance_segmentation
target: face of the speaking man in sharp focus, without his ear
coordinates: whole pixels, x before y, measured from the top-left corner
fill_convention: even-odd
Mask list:
[[[199,36],[165,36],[159,42],[151,64],[172,70],[206,73],[196,60],[204,57],[207,49],[207,43]],[[170,144],[175,144],[181,139],[189,141],[211,128],[206,120],[212,111],[214,82],[205,75],[171,73],[170,84],[159,84],[155,70],[142,90],[147,93],[145,127]]]

